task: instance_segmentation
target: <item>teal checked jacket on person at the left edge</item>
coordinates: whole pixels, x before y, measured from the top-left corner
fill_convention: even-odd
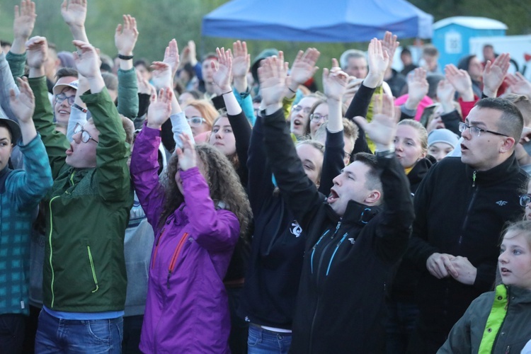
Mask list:
[[[31,224],[53,181],[40,136],[18,146],[25,171],[0,171],[0,314],[27,315]]]

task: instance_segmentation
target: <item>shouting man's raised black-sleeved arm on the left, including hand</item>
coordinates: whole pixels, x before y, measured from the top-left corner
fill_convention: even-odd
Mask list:
[[[286,67],[276,57],[264,59],[258,69],[265,117],[263,118],[265,151],[287,207],[304,229],[323,201],[316,185],[304,173],[297,156],[289,127],[282,112]]]

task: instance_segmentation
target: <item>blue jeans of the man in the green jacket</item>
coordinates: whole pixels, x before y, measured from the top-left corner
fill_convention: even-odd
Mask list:
[[[58,319],[39,315],[35,353],[121,353],[123,319]]]

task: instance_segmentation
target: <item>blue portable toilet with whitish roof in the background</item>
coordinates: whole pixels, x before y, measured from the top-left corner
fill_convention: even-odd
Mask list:
[[[485,17],[455,16],[433,24],[433,45],[439,50],[439,65],[455,64],[470,53],[470,38],[506,35],[505,23]],[[479,58],[483,61],[483,58]]]

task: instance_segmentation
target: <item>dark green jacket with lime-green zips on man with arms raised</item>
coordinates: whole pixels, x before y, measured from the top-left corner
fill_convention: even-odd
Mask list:
[[[63,312],[121,311],[127,275],[124,234],[133,195],[130,145],[106,89],[81,99],[100,132],[96,164],[75,169],[65,162],[67,137],[55,131],[44,77],[29,79],[35,93],[35,127],[42,136],[54,185],[45,198],[43,302]]]

